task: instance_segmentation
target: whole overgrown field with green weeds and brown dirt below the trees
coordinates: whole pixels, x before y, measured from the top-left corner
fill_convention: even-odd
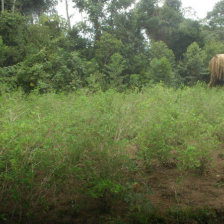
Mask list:
[[[223,142],[223,88],[2,93],[0,220],[222,223]]]

